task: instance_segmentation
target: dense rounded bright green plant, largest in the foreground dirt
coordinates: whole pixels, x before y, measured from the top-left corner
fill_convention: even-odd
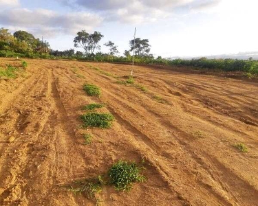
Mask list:
[[[142,168],[136,163],[127,161],[118,161],[109,169],[110,183],[116,187],[116,190],[130,190],[132,183],[143,182],[145,177],[140,174]]]

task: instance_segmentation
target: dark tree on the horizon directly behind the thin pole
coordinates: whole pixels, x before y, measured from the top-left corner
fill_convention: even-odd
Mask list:
[[[131,40],[129,42],[129,45],[131,47],[130,52],[133,51],[133,43],[134,40]],[[148,39],[140,39],[140,38],[136,38],[136,43],[135,43],[135,54],[137,56],[146,56],[147,54],[149,54],[149,52],[151,51],[151,45],[149,45],[149,40]]]

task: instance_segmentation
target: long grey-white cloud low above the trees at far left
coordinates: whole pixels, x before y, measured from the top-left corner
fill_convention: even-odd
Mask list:
[[[56,34],[76,34],[80,30],[91,32],[103,18],[89,12],[60,14],[52,10],[28,10],[25,8],[0,11],[0,24],[15,28],[23,27],[35,35],[52,37]]]

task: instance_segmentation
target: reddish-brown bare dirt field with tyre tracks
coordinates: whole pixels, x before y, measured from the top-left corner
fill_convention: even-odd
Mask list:
[[[142,91],[117,83],[129,65],[26,61],[18,78],[0,80],[0,205],[258,205],[257,82],[136,66]],[[93,102],[116,120],[88,128],[84,145],[79,116]],[[98,203],[63,186],[142,158],[147,181],[129,192],[107,185]]]

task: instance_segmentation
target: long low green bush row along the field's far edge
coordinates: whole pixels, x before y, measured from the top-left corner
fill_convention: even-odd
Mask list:
[[[39,54],[39,53],[25,53],[19,54],[10,51],[0,50],[1,57],[27,57],[27,58],[47,58],[47,59],[77,59],[77,60],[89,60],[97,62],[131,62],[132,57],[127,56],[111,56],[108,54],[96,54],[95,56],[52,56],[50,54]],[[192,66],[200,67],[207,69],[220,69],[222,71],[244,71],[246,73],[258,74],[258,60],[237,60],[237,59],[208,59],[208,58],[199,58],[199,59],[175,59],[167,60],[164,58],[153,58],[153,57],[138,57],[134,59],[136,64],[146,64],[146,65],[182,65],[182,66]]]

